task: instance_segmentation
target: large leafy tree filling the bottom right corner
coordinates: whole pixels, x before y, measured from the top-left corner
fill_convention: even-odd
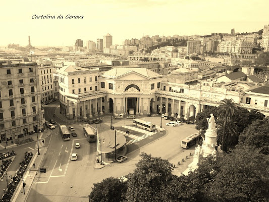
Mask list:
[[[199,172],[208,164],[203,163]],[[218,155],[210,172],[211,182],[204,184],[203,201],[268,201],[269,160],[249,147],[239,147],[231,154]],[[210,167],[209,167],[210,168]]]

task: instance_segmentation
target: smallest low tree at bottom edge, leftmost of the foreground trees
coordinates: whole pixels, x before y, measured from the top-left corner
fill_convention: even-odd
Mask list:
[[[125,200],[127,182],[122,182],[118,178],[109,177],[93,184],[93,186],[89,195],[91,202],[119,202]]]

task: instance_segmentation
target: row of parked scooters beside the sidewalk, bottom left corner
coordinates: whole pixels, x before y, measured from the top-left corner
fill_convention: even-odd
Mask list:
[[[15,176],[11,178],[12,181],[9,183],[7,190],[5,190],[3,197],[0,199],[0,202],[10,201],[32,157],[33,154],[31,152],[30,153],[26,152],[24,154],[24,160],[20,163],[20,168],[16,171]],[[23,184],[23,186],[25,186],[25,183]]]

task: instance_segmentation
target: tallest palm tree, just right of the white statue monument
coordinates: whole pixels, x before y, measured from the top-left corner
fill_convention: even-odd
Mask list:
[[[227,138],[234,134],[237,130],[233,130],[231,128],[231,122],[234,120],[235,115],[237,114],[238,104],[231,99],[223,99],[220,102],[220,105],[217,109],[218,119],[223,122],[221,124],[220,130],[218,131],[218,139],[221,140],[222,143],[222,150],[227,151],[227,143],[230,138]]]

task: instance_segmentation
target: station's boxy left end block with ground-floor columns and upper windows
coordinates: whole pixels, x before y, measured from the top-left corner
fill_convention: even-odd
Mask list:
[[[58,70],[60,87],[60,111],[70,119],[86,119],[92,112],[103,113],[102,103],[105,93],[100,90],[99,70],[89,70],[77,66],[65,66]],[[98,101],[97,101],[98,99]]]

